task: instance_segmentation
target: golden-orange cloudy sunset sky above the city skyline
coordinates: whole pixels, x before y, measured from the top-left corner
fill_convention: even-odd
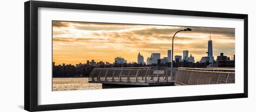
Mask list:
[[[53,21],[53,61],[55,64],[86,63],[87,60],[114,62],[123,57],[137,62],[140,52],[144,61],[151,53],[167,57],[174,33],[187,26],[130,25],[94,22]],[[234,28],[191,27],[193,31],[177,33],[174,55],[189,50],[195,61],[207,56],[211,32],[213,55],[220,53],[231,57],[235,53]]]

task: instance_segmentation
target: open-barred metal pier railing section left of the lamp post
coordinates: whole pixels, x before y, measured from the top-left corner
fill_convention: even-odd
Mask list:
[[[164,82],[171,80],[169,67],[96,68],[89,80],[123,82]]]

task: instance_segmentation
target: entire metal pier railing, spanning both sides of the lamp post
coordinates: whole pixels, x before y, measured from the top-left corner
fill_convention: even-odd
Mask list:
[[[234,68],[174,68],[174,80],[182,85],[235,83]],[[92,81],[167,82],[171,80],[170,67],[94,68]]]

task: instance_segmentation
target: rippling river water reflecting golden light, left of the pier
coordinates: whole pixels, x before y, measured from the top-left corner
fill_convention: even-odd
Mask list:
[[[88,83],[88,78],[53,78],[53,91],[102,89],[102,84]]]

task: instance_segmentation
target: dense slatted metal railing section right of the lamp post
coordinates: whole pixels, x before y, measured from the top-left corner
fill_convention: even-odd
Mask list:
[[[175,81],[184,85],[235,83],[235,69],[178,68]]]

